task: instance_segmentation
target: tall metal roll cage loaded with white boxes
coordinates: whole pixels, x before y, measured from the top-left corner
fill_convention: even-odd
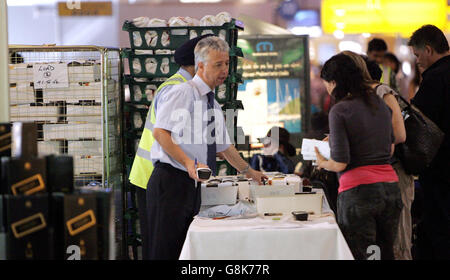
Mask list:
[[[9,46],[10,119],[38,124],[38,153],[74,158],[75,186],[114,193],[116,255],[123,253],[122,64],[120,50],[98,46]],[[67,69],[67,85],[38,86],[34,69]],[[37,84],[35,84],[37,83]]]

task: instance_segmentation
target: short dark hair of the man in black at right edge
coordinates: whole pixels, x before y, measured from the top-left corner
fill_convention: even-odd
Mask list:
[[[432,47],[439,54],[449,50],[448,41],[444,33],[431,24],[424,25],[414,31],[408,42],[408,46],[418,49],[423,49],[426,45]]]

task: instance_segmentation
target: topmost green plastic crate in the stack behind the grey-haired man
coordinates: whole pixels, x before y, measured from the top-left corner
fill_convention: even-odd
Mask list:
[[[230,46],[237,45],[238,31],[244,30],[241,21],[232,19],[222,26],[176,26],[176,27],[136,27],[132,22],[125,21],[122,30],[127,31],[130,46],[136,50],[175,50],[191,38],[213,33],[222,37]],[[157,35],[154,37],[153,35]],[[169,38],[162,42],[163,35]],[[153,40],[151,40],[153,38]],[[164,43],[164,44],[163,44]]]

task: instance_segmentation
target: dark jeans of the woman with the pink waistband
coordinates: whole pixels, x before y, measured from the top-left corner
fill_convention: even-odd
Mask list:
[[[402,208],[397,183],[359,185],[338,195],[338,224],[355,259],[372,256],[372,245],[378,246],[380,259],[394,259]]]

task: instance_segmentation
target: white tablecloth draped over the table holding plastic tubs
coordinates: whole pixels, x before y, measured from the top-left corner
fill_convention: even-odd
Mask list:
[[[212,220],[196,217],[181,260],[350,260],[332,213],[296,221],[292,215]]]

